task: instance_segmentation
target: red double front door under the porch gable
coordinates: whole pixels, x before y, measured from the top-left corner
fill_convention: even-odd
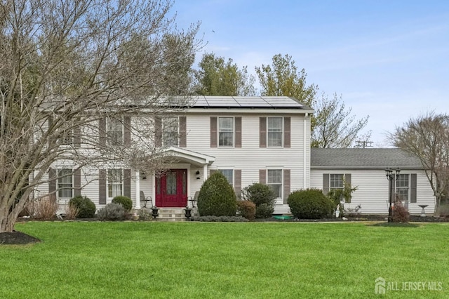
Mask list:
[[[156,206],[187,206],[187,169],[170,169],[156,178]]]

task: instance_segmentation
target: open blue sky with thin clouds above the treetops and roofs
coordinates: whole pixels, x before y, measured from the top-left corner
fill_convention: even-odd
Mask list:
[[[177,25],[200,21],[203,53],[255,74],[278,53],[293,57],[319,92],[370,116],[375,147],[427,111],[448,113],[449,1],[177,0]]]

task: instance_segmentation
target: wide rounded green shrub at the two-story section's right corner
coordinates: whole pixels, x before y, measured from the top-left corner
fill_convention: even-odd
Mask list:
[[[297,190],[288,197],[288,206],[295,218],[319,219],[333,213],[334,203],[319,189]]]

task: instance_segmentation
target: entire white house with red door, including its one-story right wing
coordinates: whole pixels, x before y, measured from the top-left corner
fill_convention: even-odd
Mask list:
[[[276,214],[290,213],[290,192],[308,187],[327,192],[342,188],[344,182],[357,187],[345,206],[360,204],[361,213],[385,214],[389,187],[384,169],[399,167],[402,172],[394,192],[412,213],[420,213],[420,205],[428,206],[427,213],[434,210],[435,197],[420,162],[401,150],[311,150],[313,112],[288,97],[192,97],[185,109],[151,122],[152,142],[166,157],[163,171],[149,173],[114,162],[73,171],[76,165],[56,162],[48,175],[58,178],[40,191],[55,193],[61,206],[82,194],[102,208],[113,197],[125,195],[138,209],[143,192],[160,208],[182,208],[210,173],[220,171],[236,194],[254,182],[272,187],[277,195]],[[100,143],[131,146],[139,142],[133,134],[138,122],[138,116],[129,115],[121,121],[101,119],[94,127]],[[76,142],[82,147],[83,136]]]

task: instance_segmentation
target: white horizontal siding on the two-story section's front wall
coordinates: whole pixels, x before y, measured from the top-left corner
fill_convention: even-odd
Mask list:
[[[241,109],[243,110],[243,109]],[[231,114],[232,113],[232,114]],[[203,183],[203,178],[208,175],[210,170],[219,169],[234,169],[233,180],[234,187],[236,185],[236,171],[239,170],[241,175],[239,176],[239,187],[242,189],[248,185],[258,182],[259,171],[261,169],[290,169],[290,188],[291,190],[300,190],[309,187],[309,163],[310,163],[310,142],[309,142],[309,121],[310,117],[304,117],[304,114],[295,114],[295,112],[288,114],[291,119],[291,131],[296,132],[291,135],[291,147],[266,147],[260,148],[260,117],[278,117],[279,111],[271,114],[268,109],[263,109],[260,113],[246,113],[243,111],[234,112],[198,112],[198,109],[189,109],[187,112],[187,124],[185,131],[187,132],[188,141],[185,150],[196,152],[199,154],[206,154],[215,158],[213,163],[210,163],[206,171],[203,166],[197,164],[191,164],[189,161],[180,161],[180,165],[177,168],[189,168],[189,177],[187,180],[187,196],[194,197],[195,192],[199,191]],[[216,115],[216,136],[217,147],[210,147],[210,118],[212,115]],[[230,116],[232,115],[232,117]],[[218,146],[218,119],[219,118],[231,118],[233,119],[234,131],[232,132],[234,138],[232,142],[236,145],[236,117],[241,117],[241,147],[234,146]],[[133,126],[141,126],[137,117],[131,119]],[[123,128],[124,129],[124,128]],[[149,128],[154,130],[154,128]],[[104,130],[107,131],[107,119],[105,120]],[[86,131],[83,131],[85,134]],[[305,136],[304,136],[305,133]],[[92,131],[91,135],[98,136],[97,131]],[[88,136],[87,136],[88,138]],[[98,139],[98,138],[97,138]],[[105,134],[106,139],[106,134]],[[162,139],[162,136],[161,136]],[[139,142],[133,140],[133,142]],[[142,146],[146,143],[142,142]],[[72,166],[71,166],[72,167]],[[54,166],[53,168],[58,168]],[[121,166],[116,166],[121,168]],[[201,173],[201,179],[196,179],[196,171]],[[135,170],[132,171],[134,175]],[[206,173],[206,175],[205,175]],[[83,196],[89,197],[97,205],[97,208],[102,208],[102,204],[99,204],[99,188],[98,188],[98,168],[83,168],[83,174],[81,175],[81,185],[83,187]],[[112,195],[109,194],[108,184],[108,169],[105,168],[105,192],[107,203],[110,202]],[[124,180],[124,176],[123,176]],[[281,181],[283,182],[283,181]],[[140,176],[140,190],[145,192],[145,196],[153,197],[156,182],[154,176],[147,174],[145,179]],[[123,185],[117,182],[116,194],[124,192]],[[47,192],[48,186],[43,185],[42,192]],[[283,194],[283,188],[281,188]],[[43,193],[44,194],[44,193]],[[109,197],[110,195],[110,197]],[[131,180],[131,197],[135,201],[135,180]],[[283,204],[281,200],[276,201],[275,214],[290,213],[290,209],[287,204]]]

